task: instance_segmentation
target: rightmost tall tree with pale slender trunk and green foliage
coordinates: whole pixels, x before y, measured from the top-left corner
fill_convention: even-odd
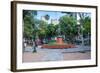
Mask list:
[[[90,18],[88,18],[88,13],[85,12],[79,12],[78,13],[79,17],[80,17],[80,35],[81,36],[81,40],[82,40],[82,44],[84,45],[84,32],[90,32]]]

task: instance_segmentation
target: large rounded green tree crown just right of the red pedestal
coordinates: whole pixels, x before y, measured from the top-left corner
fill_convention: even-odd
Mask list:
[[[76,28],[77,20],[73,16],[62,16],[60,18],[59,25],[61,26],[62,35],[66,36],[67,40],[73,41],[74,37],[77,35]]]

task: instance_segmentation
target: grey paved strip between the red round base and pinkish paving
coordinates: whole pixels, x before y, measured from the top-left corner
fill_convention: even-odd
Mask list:
[[[90,51],[90,46],[76,46],[76,48],[67,48],[67,49],[47,49],[47,48],[41,48],[40,46],[36,48],[37,52],[84,52],[84,51]],[[32,52],[32,47],[25,48],[25,52]]]

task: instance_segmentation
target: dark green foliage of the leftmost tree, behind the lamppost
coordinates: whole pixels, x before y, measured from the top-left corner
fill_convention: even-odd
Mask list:
[[[37,15],[36,11],[33,10],[23,10],[23,24],[24,24],[24,37],[32,38],[34,31],[35,18]]]

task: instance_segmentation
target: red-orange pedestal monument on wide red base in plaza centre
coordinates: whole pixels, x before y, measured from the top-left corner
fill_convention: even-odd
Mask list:
[[[53,43],[53,44],[43,44],[42,45],[42,48],[47,48],[47,49],[67,49],[67,48],[75,48],[75,45],[73,44],[67,44],[64,42],[64,39],[62,37],[62,34],[61,34],[61,27],[60,27],[60,24],[59,24],[59,27],[57,29],[57,33],[58,33],[58,36],[56,37],[56,42]]]

